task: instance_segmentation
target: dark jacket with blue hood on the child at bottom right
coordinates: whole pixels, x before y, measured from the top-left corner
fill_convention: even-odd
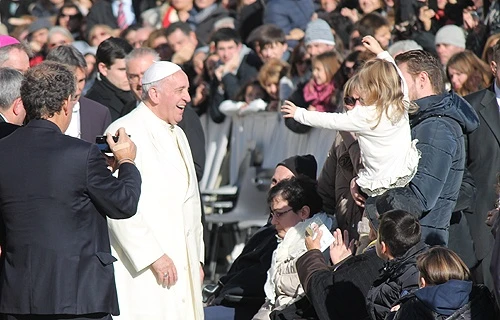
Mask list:
[[[496,319],[488,288],[471,281],[449,280],[404,297],[394,320]]]

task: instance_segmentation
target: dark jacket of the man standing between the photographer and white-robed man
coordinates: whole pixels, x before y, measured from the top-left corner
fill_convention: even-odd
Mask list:
[[[89,98],[80,98],[80,131],[82,140],[95,143],[96,136],[102,136],[111,124],[109,109]]]

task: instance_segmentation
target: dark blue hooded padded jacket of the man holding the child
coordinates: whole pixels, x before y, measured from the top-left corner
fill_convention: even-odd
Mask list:
[[[419,110],[410,116],[410,126],[412,138],[419,141],[421,158],[410,188],[424,209],[420,220],[423,235],[427,236],[424,241],[446,245],[466,164],[464,135],[479,126],[479,118],[471,105],[454,92],[415,102]]]

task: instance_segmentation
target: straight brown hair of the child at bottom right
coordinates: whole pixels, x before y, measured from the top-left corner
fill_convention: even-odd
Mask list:
[[[469,268],[462,259],[445,247],[434,247],[418,256],[417,269],[429,285],[443,284],[452,279],[470,279]]]

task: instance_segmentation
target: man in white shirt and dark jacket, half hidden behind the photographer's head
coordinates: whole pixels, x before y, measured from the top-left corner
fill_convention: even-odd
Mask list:
[[[59,46],[50,50],[46,60],[65,64],[76,77],[75,98],[78,102],[73,107],[73,116],[65,133],[94,143],[95,137],[102,135],[111,124],[111,113],[102,104],[81,96],[87,69],[85,58],[72,46]]]

